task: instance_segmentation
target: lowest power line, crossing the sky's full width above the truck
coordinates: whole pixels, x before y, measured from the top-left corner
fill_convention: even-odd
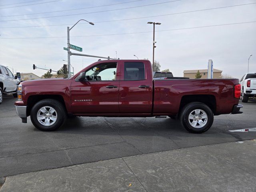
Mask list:
[[[226,26],[226,25],[236,25],[236,24],[246,24],[246,23],[255,23],[255,22],[256,21],[240,22],[240,23],[228,23],[228,24],[218,24],[218,25],[206,25],[206,26],[198,26],[198,27],[167,29],[167,30],[156,30],[155,32],[187,30],[187,29],[216,27],[216,26]],[[131,32],[131,33],[116,33],[116,34],[101,34],[101,35],[100,34],[99,35],[85,35],[85,36],[70,36],[70,37],[96,37],[96,36],[112,36],[112,35],[143,34],[143,33],[152,33],[152,31]],[[67,37],[66,36],[60,36],[60,37],[17,37],[17,38],[0,38],[0,40],[1,39],[45,39],[45,38],[67,38]]]

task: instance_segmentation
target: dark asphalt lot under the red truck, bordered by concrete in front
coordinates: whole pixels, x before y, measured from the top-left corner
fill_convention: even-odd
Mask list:
[[[0,177],[87,162],[256,138],[256,132],[228,130],[256,127],[256,101],[242,103],[243,114],[214,116],[204,134],[188,133],[170,118],[68,119],[55,132],[22,124],[12,97],[0,105]]]

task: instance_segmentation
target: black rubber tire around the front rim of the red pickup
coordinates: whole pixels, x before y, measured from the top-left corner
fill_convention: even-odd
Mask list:
[[[40,110],[40,108],[42,108],[44,106],[49,106],[49,107],[54,108],[54,110],[57,113],[57,119],[54,122],[54,124],[52,124],[52,125],[45,126],[45,125],[42,125],[37,120],[38,110]],[[32,107],[32,109],[30,111],[30,119],[31,119],[32,124],[37,129],[39,129],[41,131],[54,131],[54,130],[58,129],[60,126],[62,126],[62,124],[64,123],[66,118],[67,118],[66,108],[64,107],[64,105],[61,102],[59,102],[58,100],[54,100],[54,99],[41,100],[41,101],[37,102]]]

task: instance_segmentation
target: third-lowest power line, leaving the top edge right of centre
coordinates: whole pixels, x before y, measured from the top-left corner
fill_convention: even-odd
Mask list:
[[[63,17],[63,16],[73,16],[73,15],[91,14],[91,13],[101,13],[101,12],[108,12],[108,11],[116,11],[116,10],[124,10],[124,9],[131,9],[131,8],[152,6],[152,5],[158,5],[158,4],[170,3],[170,2],[176,2],[176,1],[181,1],[181,0],[173,0],[173,1],[167,1],[167,2],[161,2],[161,3],[148,4],[148,5],[140,5],[140,6],[134,6],[134,7],[126,7],[126,8],[112,9],[112,10],[103,10],[103,11],[88,12],[88,13],[78,13],[78,14],[68,14],[68,15],[59,15],[59,16],[48,16],[48,17],[37,17],[37,18],[28,18],[28,19],[16,19],[16,20],[3,20],[3,21],[0,21],[0,22],[6,22],[6,21],[20,21],[20,20],[31,20],[31,19],[43,19],[43,18],[54,18],[54,17]]]

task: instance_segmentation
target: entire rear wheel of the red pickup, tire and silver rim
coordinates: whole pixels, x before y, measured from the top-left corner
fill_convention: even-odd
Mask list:
[[[201,102],[187,104],[180,115],[182,125],[192,133],[206,132],[212,126],[213,119],[212,110]]]

